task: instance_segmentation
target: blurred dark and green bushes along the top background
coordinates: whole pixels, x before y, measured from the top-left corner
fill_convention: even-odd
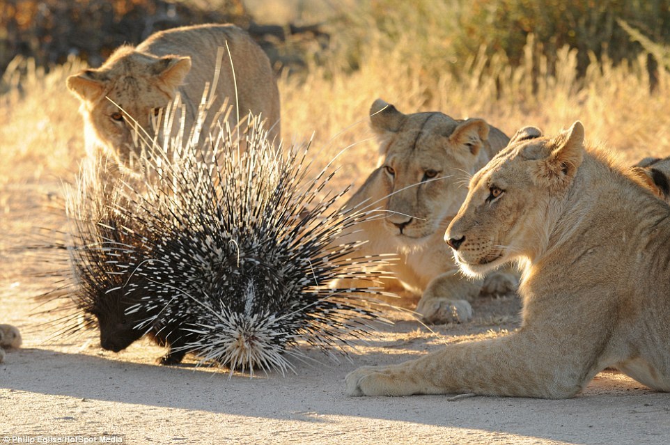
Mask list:
[[[421,58],[427,75],[458,72],[474,54],[501,54],[514,67],[533,36],[548,72],[568,45],[584,74],[594,57],[616,64],[643,50],[621,22],[670,43],[670,0],[0,0],[0,70],[17,55],[44,67],[69,55],[97,66],[118,45],[204,22],[249,30],[278,68],[313,61],[356,70],[371,52]]]

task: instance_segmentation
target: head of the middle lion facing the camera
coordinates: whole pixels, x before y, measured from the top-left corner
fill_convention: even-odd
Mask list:
[[[383,159],[376,172],[382,188],[377,194],[387,196],[382,224],[407,244],[433,235],[455,214],[467,178],[508,140],[482,119],[454,120],[437,111],[403,114],[380,99],[370,114]]]

